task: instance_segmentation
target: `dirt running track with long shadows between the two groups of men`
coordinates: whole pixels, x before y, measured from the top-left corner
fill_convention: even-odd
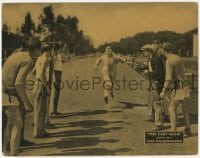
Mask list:
[[[197,153],[197,117],[192,117],[193,136],[183,144],[145,144],[144,132],[153,124],[146,121],[148,101],[147,81],[127,65],[118,65],[117,78],[138,81],[138,89],[131,90],[120,82],[120,90],[109,105],[103,102],[102,85],[89,90],[78,89],[77,82],[101,77],[94,69],[96,58],[75,59],[64,64],[63,85],[59,111],[63,115],[51,119],[55,129],[48,129],[49,138],[32,137],[33,114],[26,119],[26,138],[35,145],[23,148],[20,155],[162,155]],[[72,85],[72,82],[74,84]],[[142,81],[142,86],[140,82]],[[69,86],[72,86],[71,89]],[[134,83],[135,84],[135,83]],[[80,88],[80,86],[78,87]],[[136,87],[131,87],[132,89]],[[87,86],[84,87],[87,89]],[[182,118],[178,130],[183,129]],[[165,124],[168,131],[170,126]]]

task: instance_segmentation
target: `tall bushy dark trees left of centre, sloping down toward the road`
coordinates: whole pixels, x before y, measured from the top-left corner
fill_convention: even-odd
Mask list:
[[[66,43],[69,52],[83,55],[94,51],[91,39],[86,37],[82,30],[79,30],[79,20],[76,16],[63,17],[53,12],[52,6],[46,6],[43,9],[43,14],[39,16],[40,23],[37,26],[37,32],[45,34],[44,28],[48,28],[49,34],[47,41],[61,41]]]

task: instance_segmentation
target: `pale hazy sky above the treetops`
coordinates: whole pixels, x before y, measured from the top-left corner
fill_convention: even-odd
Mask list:
[[[3,24],[14,32],[29,11],[37,24],[48,3],[3,4]],[[95,47],[144,31],[184,33],[198,26],[197,3],[54,3],[55,15],[77,16]]]

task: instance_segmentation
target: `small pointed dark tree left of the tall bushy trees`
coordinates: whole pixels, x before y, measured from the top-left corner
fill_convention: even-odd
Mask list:
[[[29,36],[32,36],[35,32],[35,23],[31,18],[30,12],[28,12],[25,16],[25,21],[21,25],[21,32]]]

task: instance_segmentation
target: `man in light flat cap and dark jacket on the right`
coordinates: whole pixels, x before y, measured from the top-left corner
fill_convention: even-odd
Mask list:
[[[148,53],[148,68],[144,70],[150,81],[148,121],[155,122],[154,130],[159,131],[163,128],[162,104],[159,94],[164,82],[164,64],[153,47],[146,50],[143,49],[143,51]]]

